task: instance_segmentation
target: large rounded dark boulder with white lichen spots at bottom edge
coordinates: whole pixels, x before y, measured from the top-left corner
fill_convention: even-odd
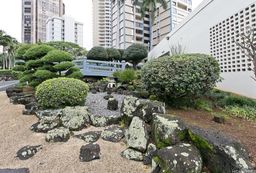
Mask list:
[[[202,172],[203,159],[200,151],[187,143],[161,148],[154,160],[157,161],[160,172]]]

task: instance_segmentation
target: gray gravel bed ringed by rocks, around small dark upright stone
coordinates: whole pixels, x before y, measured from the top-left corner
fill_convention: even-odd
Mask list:
[[[118,100],[118,109],[116,111],[107,110],[108,100],[103,99],[107,95],[106,92],[97,92],[97,94],[88,93],[86,104],[88,105],[90,115],[120,116],[120,108],[126,95],[114,94],[113,97]],[[139,99],[140,103],[147,99]]]

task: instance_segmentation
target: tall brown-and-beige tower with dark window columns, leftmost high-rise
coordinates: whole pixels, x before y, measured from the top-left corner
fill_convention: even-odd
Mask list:
[[[62,0],[21,0],[21,42],[46,42],[46,20],[53,15],[62,17],[65,5]]]

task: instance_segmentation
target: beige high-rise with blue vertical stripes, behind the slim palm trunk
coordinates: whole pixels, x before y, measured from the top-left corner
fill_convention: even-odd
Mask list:
[[[148,46],[150,42],[149,13],[144,21],[141,19],[140,3],[132,6],[133,1],[120,4],[120,37],[119,49],[126,49],[133,43]],[[112,4],[112,47],[116,47],[117,4]],[[148,49],[148,47],[147,47]]]

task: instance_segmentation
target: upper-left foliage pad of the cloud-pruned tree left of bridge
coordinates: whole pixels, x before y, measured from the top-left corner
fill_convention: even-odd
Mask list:
[[[51,52],[53,50],[53,47],[47,45],[33,46],[32,48],[26,51],[26,53],[23,56],[23,59],[25,61],[36,60],[38,58],[45,56],[48,52]]]

